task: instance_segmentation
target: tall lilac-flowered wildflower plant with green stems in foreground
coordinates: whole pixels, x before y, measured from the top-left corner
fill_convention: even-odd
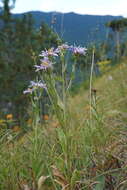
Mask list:
[[[35,139],[38,139],[39,113],[41,112],[41,109],[43,109],[40,107],[38,100],[42,96],[43,90],[47,93],[52,105],[53,114],[59,123],[59,127],[56,128],[55,131],[57,136],[57,147],[55,154],[57,156],[60,154],[61,156],[59,155],[60,157],[56,159],[55,165],[57,165],[62,160],[63,164],[65,165],[63,173],[68,177],[70,176],[70,180],[72,177],[71,172],[73,164],[71,160],[74,159],[74,156],[72,153],[73,140],[70,130],[72,124],[70,122],[69,113],[69,90],[71,88],[72,80],[74,79],[77,56],[85,56],[85,54],[86,48],[69,46],[66,43],[58,46],[56,49],[50,48],[48,50],[42,51],[39,55],[40,64],[34,66],[38,80],[36,82],[31,81],[28,89],[24,91],[25,94],[30,94],[32,105],[36,110],[36,121],[33,125]],[[73,64],[71,64],[70,61],[71,56],[74,57]],[[71,67],[70,75],[68,74],[68,67]],[[35,140],[36,151],[37,143],[38,140]],[[59,153],[59,151],[61,153]],[[59,168],[59,166],[57,167]],[[73,170],[75,172],[75,168],[73,168]]]

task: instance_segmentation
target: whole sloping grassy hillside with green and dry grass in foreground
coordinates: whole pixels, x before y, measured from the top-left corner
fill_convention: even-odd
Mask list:
[[[69,98],[66,128],[45,116],[44,124],[29,121],[20,138],[21,131],[1,130],[0,188],[127,189],[126,76],[123,60],[94,79],[91,90],[83,85]]]

